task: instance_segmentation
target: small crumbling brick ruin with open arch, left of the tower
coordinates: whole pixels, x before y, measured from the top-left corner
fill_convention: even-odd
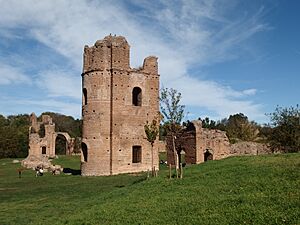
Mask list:
[[[39,122],[32,113],[30,123],[28,156],[22,161],[24,167],[34,168],[39,164],[48,167],[51,164],[48,158],[56,156],[55,142],[59,135],[66,139],[66,155],[73,153],[75,138],[71,138],[66,132],[55,132],[55,123],[49,115],[42,115],[42,121]]]

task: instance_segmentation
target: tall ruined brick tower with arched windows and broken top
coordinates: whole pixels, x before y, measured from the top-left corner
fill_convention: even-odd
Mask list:
[[[107,36],[84,48],[82,158],[84,176],[151,170],[151,145],[144,125],[159,112],[157,57],[130,68],[130,46]],[[153,164],[158,169],[157,143]]]

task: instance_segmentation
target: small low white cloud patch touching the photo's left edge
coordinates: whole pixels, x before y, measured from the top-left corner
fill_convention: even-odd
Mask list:
[[[0,85],[31,84],[31,79],[18,68],[0,62]]]

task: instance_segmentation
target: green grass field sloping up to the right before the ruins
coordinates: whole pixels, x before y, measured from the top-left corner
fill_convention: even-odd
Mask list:
[[[79,157],[56,164],[79,169]],[[300,224],[300,154],[232,157],[185,168],[184,178],[81,177],[0,160],[0,224]]]

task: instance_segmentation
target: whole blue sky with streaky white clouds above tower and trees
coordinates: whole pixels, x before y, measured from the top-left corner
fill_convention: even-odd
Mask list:
[[[161,88],[182,93],[185,120],[243,113],[268,123],[300,103],[300,1],[0,0],[0,114],[81,118],[82,54],[105,36],[131,67],[158,57]]]

